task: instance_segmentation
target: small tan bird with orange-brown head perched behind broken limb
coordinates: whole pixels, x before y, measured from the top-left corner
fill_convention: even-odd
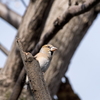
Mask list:
[[[39,53],[37,53],[34,58],[39,62],[41,71],[45,73],[47,69],[49,68],[51,59],[53,57],[54,51],[56,51],[57,48],[51,44],[45,44],[40,49]],[[26,85],[29,84],[28,76],[26,76]]]

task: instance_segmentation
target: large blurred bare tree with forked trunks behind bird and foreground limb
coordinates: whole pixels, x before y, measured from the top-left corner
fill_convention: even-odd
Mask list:
[[[86,2],[82,0],[30,0],[24,16],[21,17],[0,3],[0,17],[15,28],[19,27],[17,37],[23,41],[24,51],[30,51],[34,55],[43,44],[48,42],[58,47],[44,78],[51,96],[57,94],[59,100],[71,98],[70,93],[75,94],[72,91],[69,92],[69,96],[66,96],[65,93],[64,98],[66,99],[61,98],[60,88],[64,86],[64,84],[60,85],[61,78],[67,71],[80,41],[99,12],[99,0]],[[21,80],[23,80],[21,76],[24,75],[22,59],[14,41],[5,66],[0,72],[0,96],[7,99],[6,95],[10,96],[13,87],[18,82],[20,83],[18,88],[21,92],[20,86]]]

